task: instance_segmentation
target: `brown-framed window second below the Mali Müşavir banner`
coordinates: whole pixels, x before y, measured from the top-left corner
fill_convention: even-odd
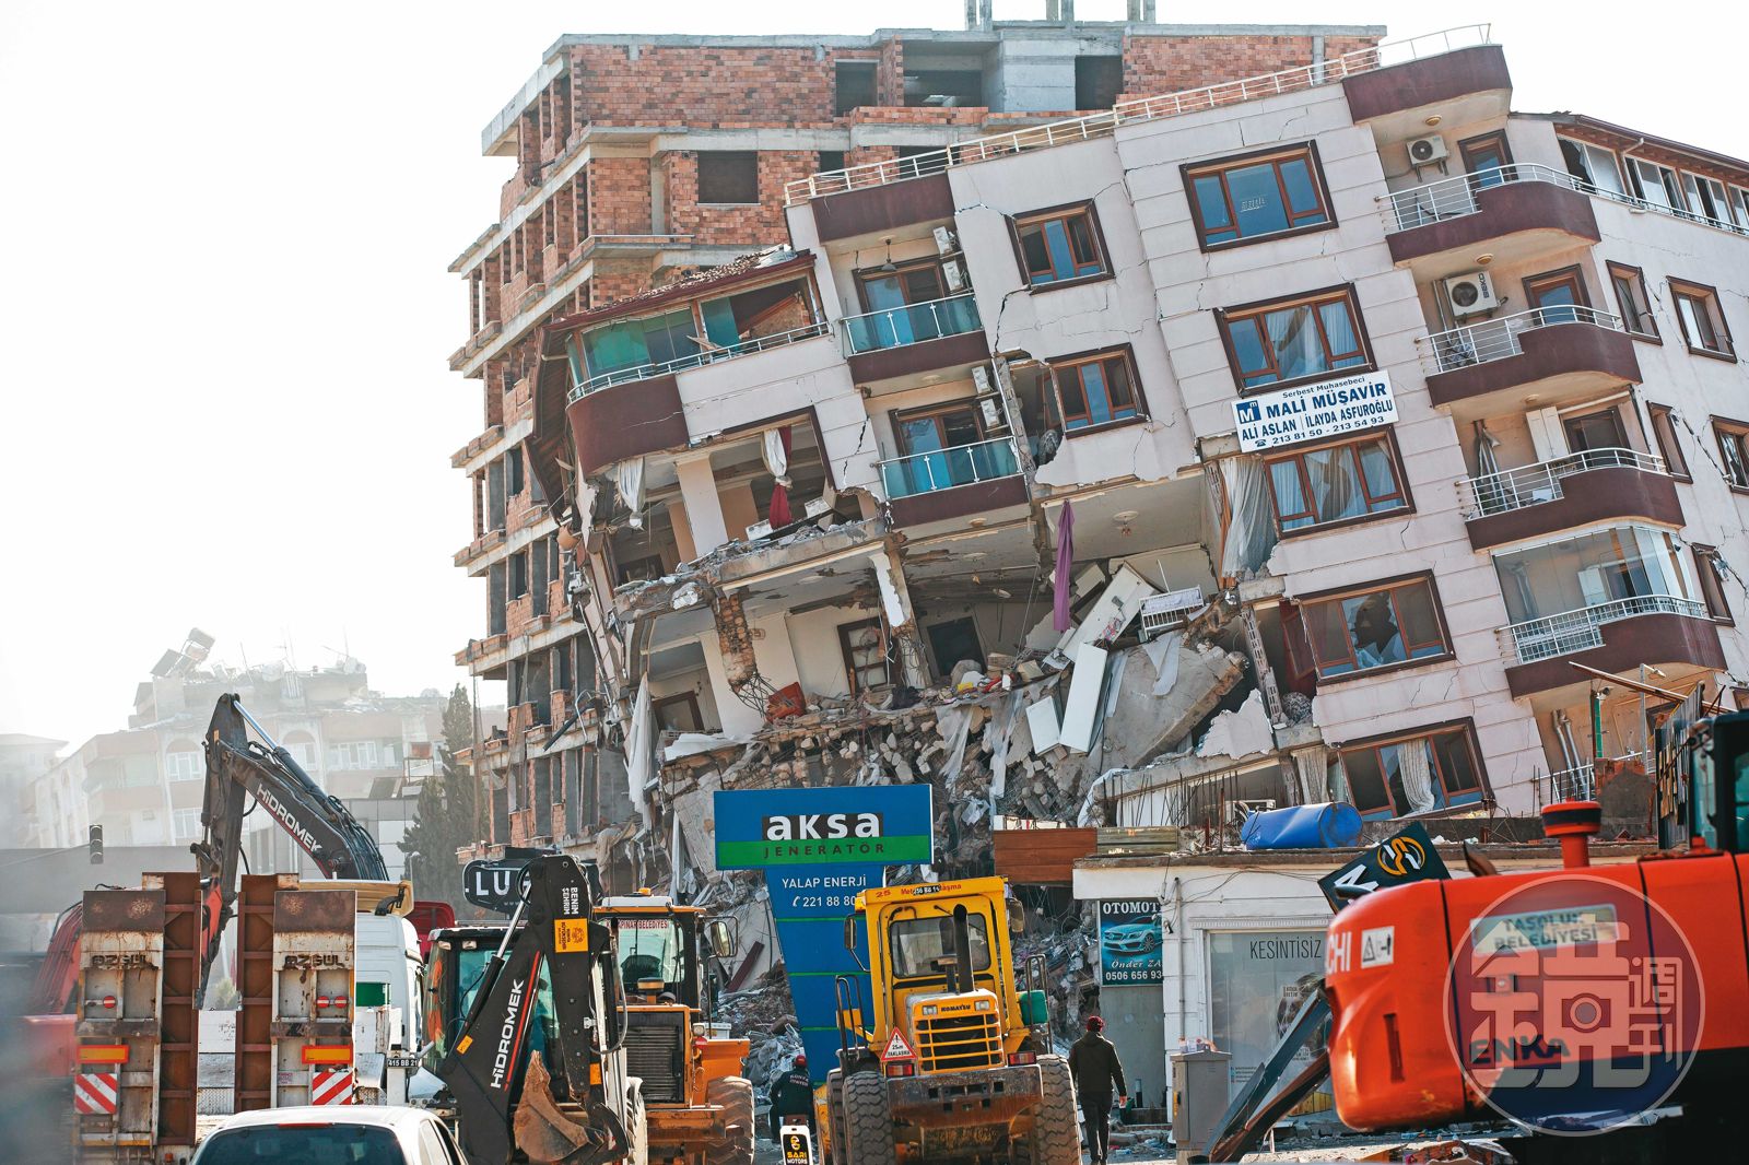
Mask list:
[[[1431,579],[1301,603],[1319,679],[1452,654]]]

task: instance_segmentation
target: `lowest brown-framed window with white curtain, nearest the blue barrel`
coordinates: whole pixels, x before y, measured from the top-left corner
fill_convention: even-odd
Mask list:
[[[1336,752],[1331,789],[1361,817],[1403,817],[1481,799],[1481,764],[1467,724]]]

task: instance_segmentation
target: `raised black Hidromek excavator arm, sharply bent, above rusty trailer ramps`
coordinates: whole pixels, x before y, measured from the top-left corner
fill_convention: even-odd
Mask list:
[[[248,728],[266,740],[248,738]],[[236,910],[236,866],[243,854],[245,796],[254,798],[329,878],[387,882],[388,868],[376,840],[339,798],[275,743],[243,710],[236,694],[219,698],[206,726],[206,798],[201,806],[203,840],[194,861],[205,883],[201,917],[201,992],[219,957],[219,939]]]

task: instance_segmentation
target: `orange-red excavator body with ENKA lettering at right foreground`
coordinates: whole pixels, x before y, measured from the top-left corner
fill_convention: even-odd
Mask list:
[[[1674,724],[1655,796],[1658,854],[1590,864],[1599,805],[1564,801],[1543,810],[1560,869],[1415,882],[1336,915],[1324,985],[1345,1125],[1506,1118],[1644,1146],[1611,1141],[1607,1160],[1718,1151],[1749,1067],[1749,714]],[[1520,1160],[1606,1160],[1597,1141],[1523,1142],[1543,1149]]]

